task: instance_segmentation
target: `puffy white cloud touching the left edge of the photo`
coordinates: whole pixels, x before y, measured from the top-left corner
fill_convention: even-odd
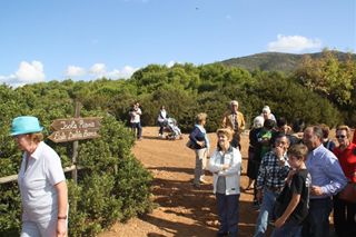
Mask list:
[[[46,76],[43,65],[40,61],[21,61],[19,69],[9,76],[0,76],[1,83],[8,83],[12,87],[20,87],[26,83],[36,83],[44,81]]]

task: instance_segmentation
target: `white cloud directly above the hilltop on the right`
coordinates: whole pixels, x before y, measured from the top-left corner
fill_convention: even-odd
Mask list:
[[[308,39],[303,36],[277,36],[277,41],[268,43],[268,51],[274,52],[303,52],[306,50],[319,50],[323,43],[319,39]]]

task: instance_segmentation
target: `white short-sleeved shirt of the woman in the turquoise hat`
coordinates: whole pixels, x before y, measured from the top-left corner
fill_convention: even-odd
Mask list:
[[[41,141],[28,161],[22,156],[19,188],[22,200],[22,220],[47,221],[58,214],[58,195],[55,185],[66,180],[57,152]]]

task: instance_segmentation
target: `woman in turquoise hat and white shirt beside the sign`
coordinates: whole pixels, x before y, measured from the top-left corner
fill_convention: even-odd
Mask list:
[[[46,145],[38,118],[17,117],[11,136],[23,150],[19,172],[22,201],[21,237],[66,236],[67,185],[57,152]]]

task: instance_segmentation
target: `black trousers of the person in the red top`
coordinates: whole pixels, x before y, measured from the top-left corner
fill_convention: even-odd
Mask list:
[[[338,237],[356,236],[356,204],[334,196],[334,226]]]

